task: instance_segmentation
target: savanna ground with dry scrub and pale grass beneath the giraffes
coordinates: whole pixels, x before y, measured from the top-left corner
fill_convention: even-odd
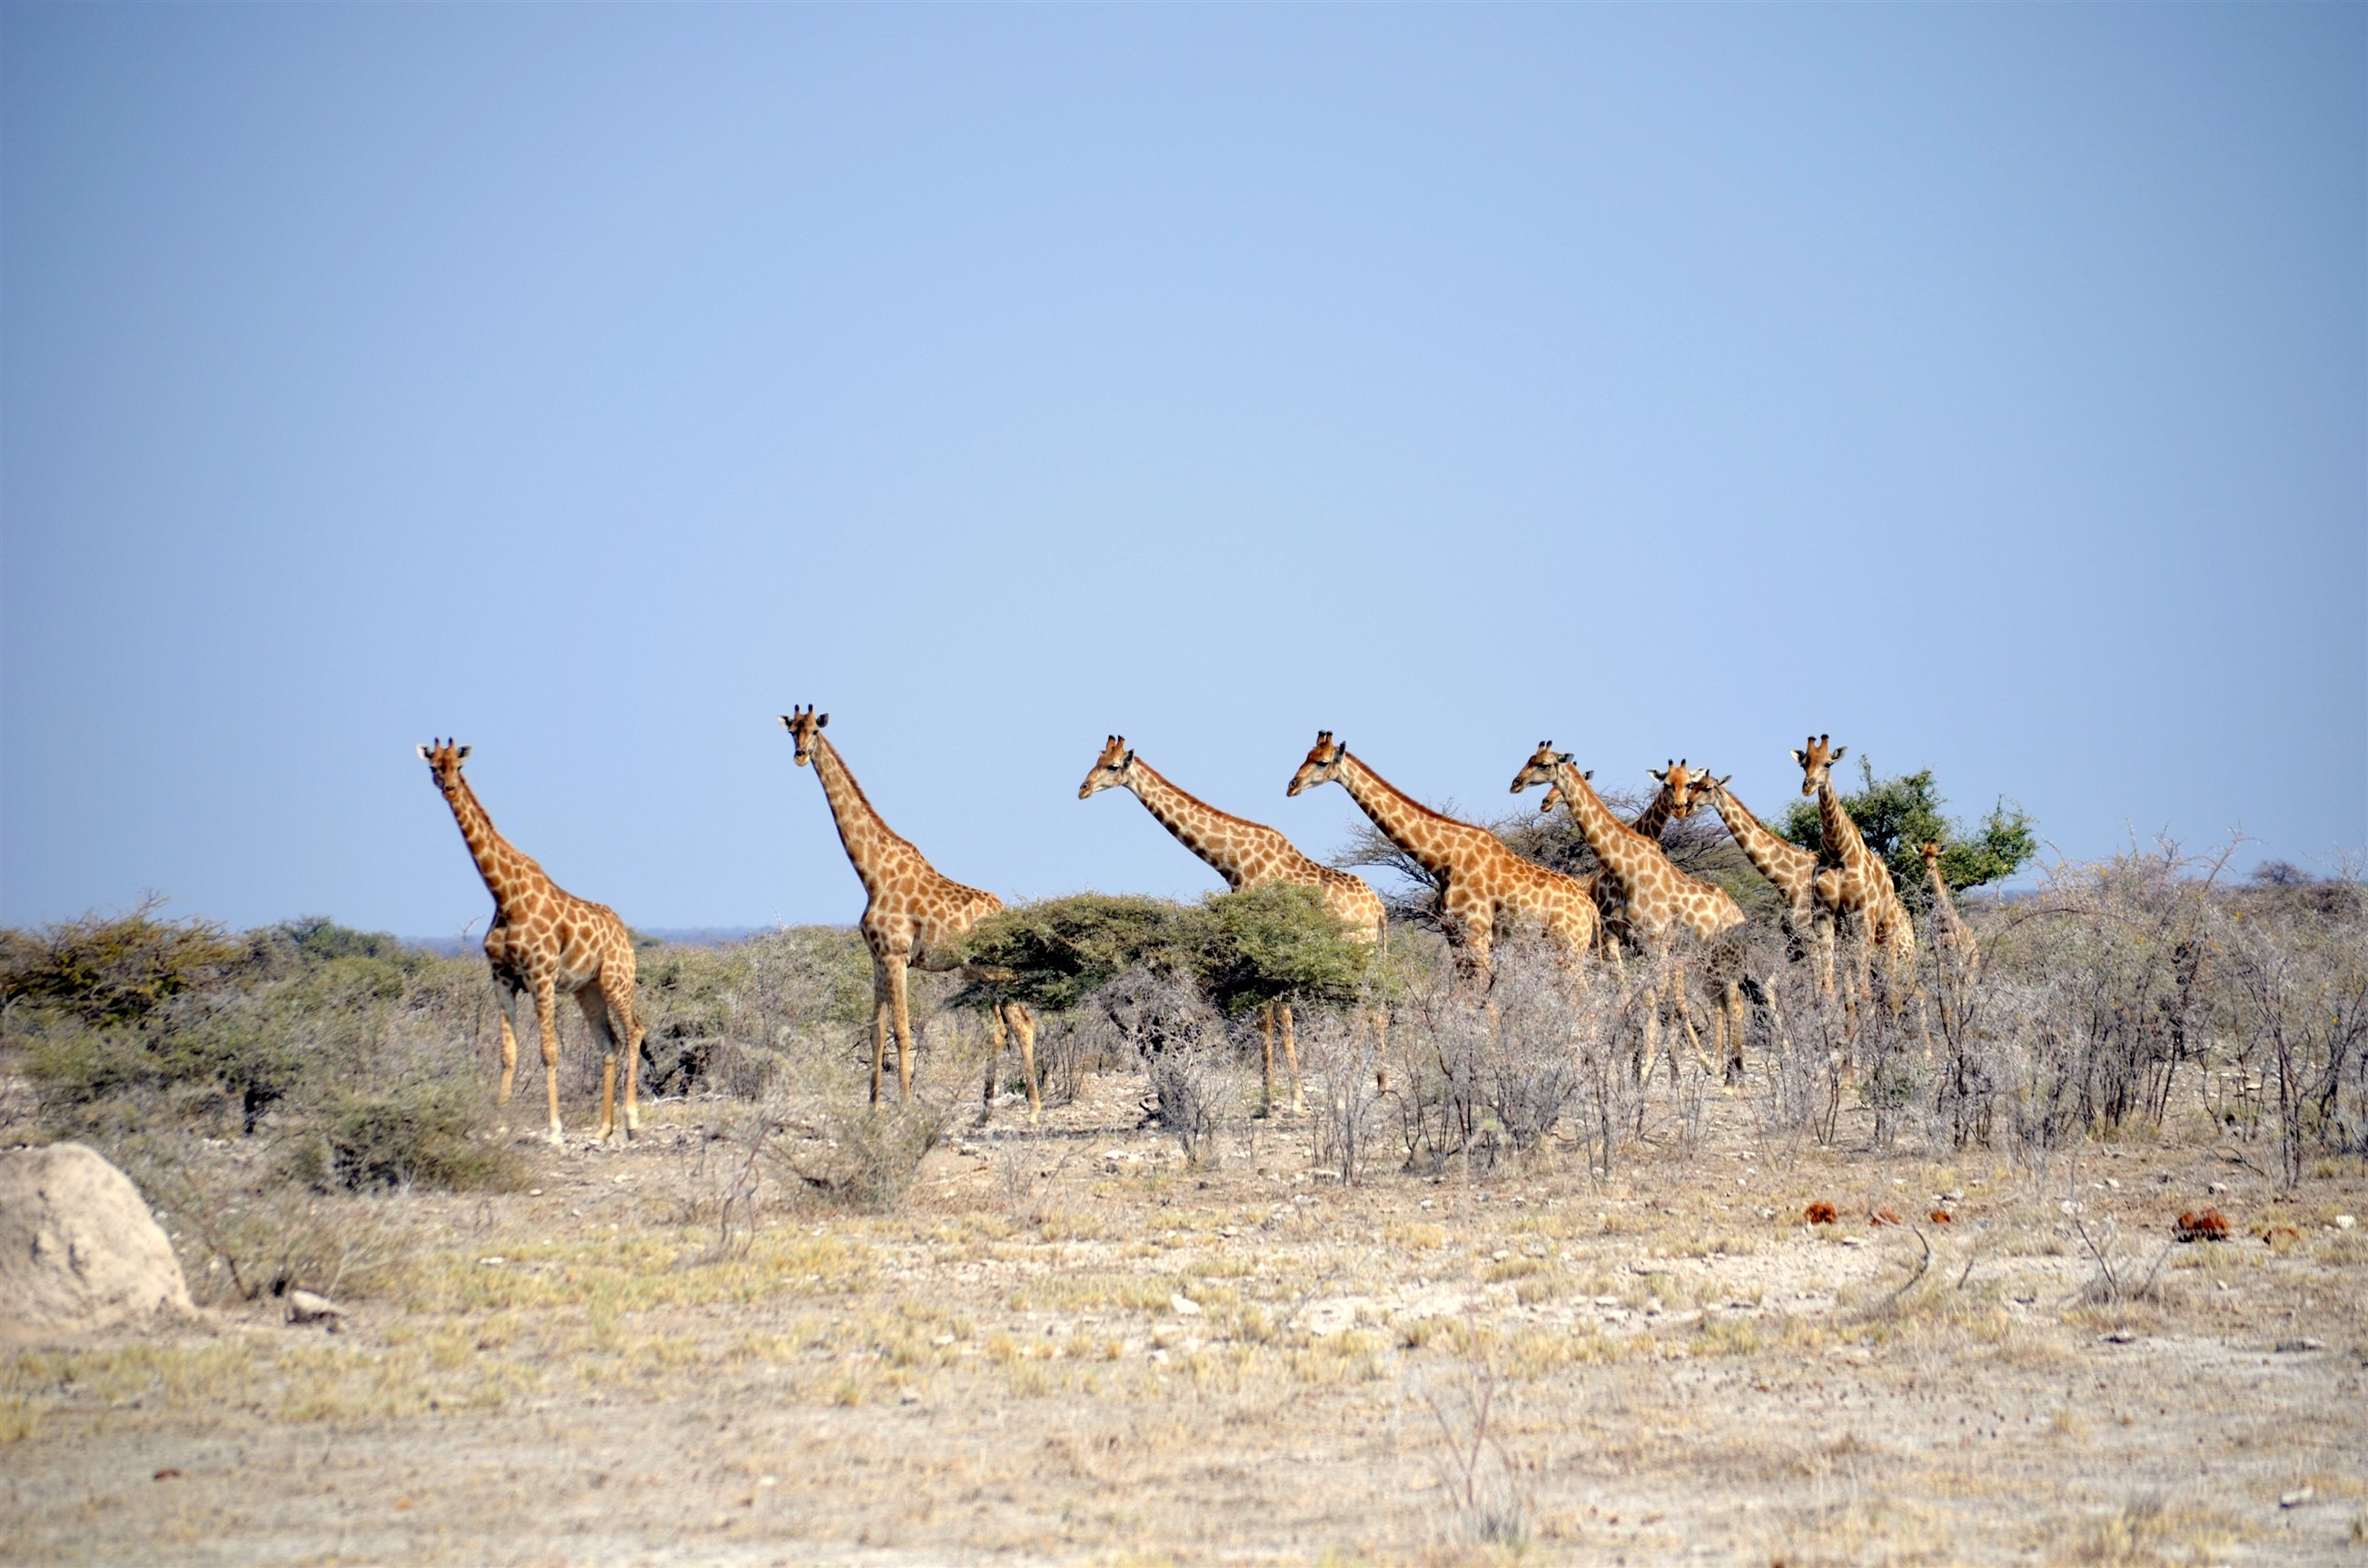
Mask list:
[[[538,1066],[485,1104],[481,964],[19,933],[0,1144],[123,1163],[208,1305],[0,1357],[0,1559],[2368,1561],[2356,886],[1977,924],[1930,1037],[1769,959],[1733,1087],[1407,931],[1388,1049],[1302,1016],[1307,1116],[1139,971],[1042,1120],[1009,1059],[978,1118],[947,985],[867,1113],[848,933],[646,947],[665,1097],[590,1146],[571,1030],[556,1151]]]

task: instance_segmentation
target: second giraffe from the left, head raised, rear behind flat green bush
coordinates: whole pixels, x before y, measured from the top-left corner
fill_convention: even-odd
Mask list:
[[[796,741],[796,763],[798,767],[815,765],[822,796],[831,803],[831,820],[838,822],[838,843],[845,846],[855,876],[864,883],[860,931],[871,950],[871,1104],[881,1099],[890,1030],[895,1033],[897,1092],[909,1101],[912,1009],[905,976],[909,969],[957,969],[947,943],[1002,910],[1004,900],[940,874],[921,857],[921,850],[881,822],[855,775],[838,760],[838,748],[822,739],[822,727],[829,722],[831,715],[817,715],[812,703],[803,713],[781,715],[781,727]],[[1035,1014],[1023,1002],[999,1002],[987,1016],[987,1026],[995,1030],[987,1082],[992,1085],[995,1061],[1004,1052],[1004,1030],[1009,1030],[1021,1042],[1021,1068],[1028,1073],[1028,1116],[1040,1116],[1044,1101],[1035,1082]]]

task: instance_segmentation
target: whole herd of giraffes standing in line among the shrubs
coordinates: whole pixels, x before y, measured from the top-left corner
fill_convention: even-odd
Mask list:
[[[812,706],[781,715],[781,727],[789,730],[793,744],[791,758],[798,767],[812,765],[815,777],[822,779],[838,841],[864,886],[864,912],[857,928],[871,952],[871,1099],[881,1099],[890,1040],[895,1040],[897,1090],[909,1099],[914,1035],[907,978],[914,969],[959,969],[957,938],[1002,910],[1004,902],[995,893],[969,888],[938,872],[919,848],[881,820],[838,748],[824,739],[822,730],[829,722],[831,715],[815,713]],[[1601,959],[1615,971],[1624,971],[1629,955],[1650,959],[1655,990],[1646,1009],[1646,1063],[1653,1056],[1653,1033],[1667,1009],[1674,1014],[1677,1028],[1693,1040],[1695,1056],[1710,1068],[1710,1056],[1703,1054],[1686,1009],[1684,971],[1674,947],[1679,933],[1691,936],[1707,952],[1705,978],[1717,992],[1712,1040],[1719,1071],[1733,1082],[1743,1071],[1748,976],[1743,973],[1740,936],[1745,917],[1724,888],[1681,872],[1662,850],[1660,834],[1672,820],[1688,817],[1707,801],[1750,865],[1776,888],[1781,898],[1778,924],[1790,957],[1812,962],[1819,988],[1833,995],[1835,955],[1845,947],[1840,938],[1849,936],[1854,938],[1847,943],[1854,952],[1854,971],[1847,983],[1852,1007],[1859,995],[1871,995],[1871,964],[1883,966],[1885,992],[1897,1007],[1904,988],[1913,985],[1916,931],[1899,891],[1892,886],[1890,869],[1866,848],[1833,789],[1833,763],[1842,753],[1845,748],[1833,746],[1830,737],[1823,734],[1809,737],[1804,748],[1793,753],[1802,767],[1802,793],[1816,796],[1823,829],[1821,848],[1804,850],[1762,827],[1726,789],[1724,777],[1707,770],[1693,772],[1686,763],[1650,770],[1658,784],[1653,801],[1634,822],[1620,822],[1596,793],[1594,775],[1579,770],[1570,753],[1542,741],[1513,775],[1513,793],[1544,784],[1542,810],[1561,805],[1570,812],[1598,862],[1598,869],[1587,876],[1570,876],[1523,860],[1489,829],[1421,805],[1350,753],[1333,739],[1331,730],[1317,734],[1317,744],[1291,775],[1283,793],[1300,796],[1319,784],[1340,784],[1373,827],[1421,865],[1437,888],[1440,931],[1454,955],[1456,973],[1466,983],[1485,985],[1492,978],[1492,947],[1513,926],[1544,928],[1558,959],[1572,969],[1584,959]],[[509,1101],[516,1073],[521,1002],[533,997],[549,1108],[547,1135],[552,1144],[564,1142],[556,1007],[559,992],[566,992],[583,1009],[592,1042],[604,1056],[601,1139],[618,1125],[616,1071],[618,1056],[625,1059],[623,1127],[630,1139],[639,1127],[637,1085],[644,1030],[635,1014],[635,959],[625,921],[609,905],[566,893],[535,860],[495,831],[493,817],[485,815],[476,791],[462,777],[466,746],[436,741],[422,746],[419,756],[426,758],[485,891],[493,893],[485,962],[502,1002],[502,1101]],[[1383,900],[1364,879],[1310,860],[1272,827],[1234,817],[1186,793],[1144,763],[1125,737],[1113,734],[1103,741],[1101,756],[1077,786],[1077,798],[1092,798],[1103,789],[1134,791],[1134,798],[1160,827],[1224,876],[1227,888],[1238,893],[1276,881],[1310,886],[1321,893],[1326,907],[1354,940],[1376,945],[1385,940]],[[1939,874],[1939,846],[1925,843],[1923,857],[1935,940],[1961,973],[1973,973],[1980,964],[1980,950],[1973,931],[1949,902],[1949,888]],[[1291,1106],[1298,1113],[1305,1108],[1305,1099],[1288,1004],[1274,1004],[1260,1016],[1267,1097],[1272,1101],[1274,1094],[1276,1026],[1281,1026],[1286,1071],[1291,1073]],[[1006,1040],[1018,1045],[1030,1116],[1042,1108],[1035,1030],[1035,1014],[1021,1002],[999,1002],[990,1009],[995,1052],[999,1054]],[[1669,1061],[1674,1073],[1674,1047]],[[987,1073],[992,1090],[992,1059]]]

